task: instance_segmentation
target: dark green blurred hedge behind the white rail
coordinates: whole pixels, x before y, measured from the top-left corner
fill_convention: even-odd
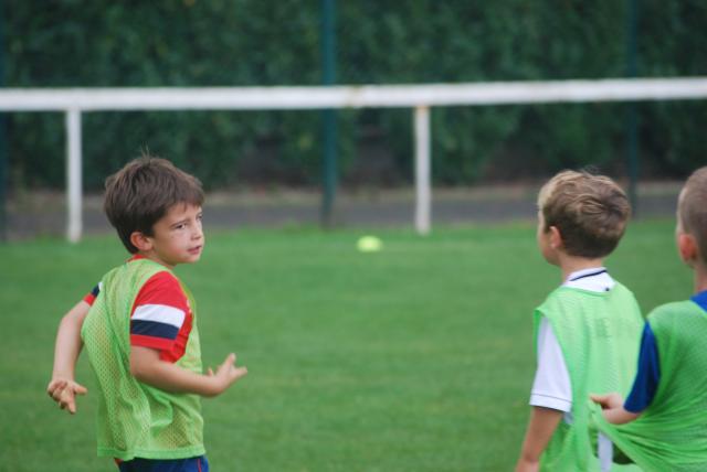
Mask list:
[[[707,75],[707,2],[639,3],[637,75]],[[320,2],[6,0],[7,87],[319,85]],[[420,84],[623,77],[627,1],[339,0],[337,83]],[[625,174],[625,104],[447,107],[432,111],[436,184],[593,164]],[[705,163],[704,101],[641,103],[644,178]],[[60,114],[8,114],[10,185],[64,185]],[[83,115],[88,190],[143,149],[208,189],[316,185],[317,111]],[[407,109],[338,112],[340,173],[394,185],[412,173]]]

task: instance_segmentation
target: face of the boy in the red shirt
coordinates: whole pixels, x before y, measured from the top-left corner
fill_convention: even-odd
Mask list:
[[[145,255],[169,268],[197,262],[204,245],[201,215],[201,206],[172,205],[152,226],[152,236],[146,236],[150,249]]]

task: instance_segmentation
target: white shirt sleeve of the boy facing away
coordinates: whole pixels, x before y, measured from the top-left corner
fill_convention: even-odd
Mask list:
[[[570,374],[560,343],[545,317],[538,330],[538,368],[530,391],[530,405],[563,412],[572,410]]]

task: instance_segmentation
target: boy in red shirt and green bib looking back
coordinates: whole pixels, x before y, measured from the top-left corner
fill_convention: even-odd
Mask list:
[[[169,161],[144,157],[106,180],[104,210],[133,255],[63,319],[48,387],[75,412],[85,345],[98,384],[98,455],[120,471],[208,471],[200,396],[245,375],[229,354],[204,375],[191,292],[172,269],[201,258],[201,183]]]

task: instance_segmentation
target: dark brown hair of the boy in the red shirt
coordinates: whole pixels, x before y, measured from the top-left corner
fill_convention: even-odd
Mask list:
[[[201,182],[165,159],[143,155],[106,179],[103,208],[131,254],[138,249],[130,235],[152,236],[155,223],[177,203],[201,205]]]

